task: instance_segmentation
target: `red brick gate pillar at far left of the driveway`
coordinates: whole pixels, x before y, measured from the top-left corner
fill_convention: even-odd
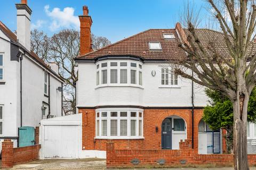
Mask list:
[[[13,142],[11,139],[4,139],[2,142],[2,168],[13,166]]]

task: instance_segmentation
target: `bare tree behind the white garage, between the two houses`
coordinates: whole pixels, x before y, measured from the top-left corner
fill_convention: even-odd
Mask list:
[[[110,44],[106,37],[92,36],[92,43],[97,48]],[[76,113],[76,82],[78,68],[74,58],[79,55],[80,35],[76,30],[62,30],[52,37],[44,32],[31,31],[31,50],[45,62],[55,62],[59,66],[59,76],[65,80],[63,84],[63,111],[65,115]]]

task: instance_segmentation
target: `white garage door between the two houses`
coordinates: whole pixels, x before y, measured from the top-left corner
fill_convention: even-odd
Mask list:
[[[78,125],[45,125],[41,138],[44,158],[78,158]]]

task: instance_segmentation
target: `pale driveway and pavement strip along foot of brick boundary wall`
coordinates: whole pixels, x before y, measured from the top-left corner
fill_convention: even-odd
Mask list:
[[[66,169],[73,169],[73,170],[80,170],[80,169],[106,169],[106,160],[105,159],[98,159],[98,158],[87,158],[87,159],[45,159],[45,160],[35,160],[33,162],[21,165],[15,165],[11,169],[17,170],[66,170]],[[115,168],[112,170],[118,170],[122,168]],[[138,169],[138,170],[145,170],[149,168],[124,168],[126,170],[130,169]],[[150,168],[157,169],[157,168]],[[158,168],[158,170],[233,170],[233,167],[201,167],[201,168]],[[108,169],[110,170],[110,169]],[[256,170],[256,167],[251,167],[250,170]]]

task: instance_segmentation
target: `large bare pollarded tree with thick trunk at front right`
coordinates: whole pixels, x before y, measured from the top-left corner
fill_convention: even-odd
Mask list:
[[[176,61],[174,70],[184,78],[221,91],[234,109],[234,169],[249,169],[247,163],[247,106],[256,83],[254,35],[256,6],[247,0],[207,0],[221,32],[199,35],[198,15],[187,8],[178,29],[179,47],[186,58]],[[228,15],[228,20],[227,16]],[[219,35],[219,36],[218,36]],[[193,71],[190,74],[189,71]]]

